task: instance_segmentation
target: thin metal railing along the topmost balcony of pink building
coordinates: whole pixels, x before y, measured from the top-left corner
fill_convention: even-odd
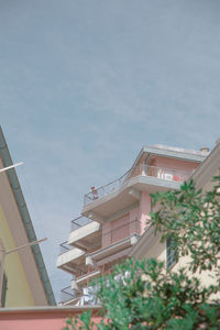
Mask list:
[[[103,196],[114,193],[119,188],[121,188],[130,178],[142,175],[142,176],[150,176],[156,177],[164,180],[173,180],[173,182],[185,182],[189,178],[193,170],[178,170],[165,167],[157,167],[157,166],[147,166],[145,164],[141,164],[135,166],[134,168],[129,169],[124,175],[120,178],[113,180],[106,186],[94,188],[91,191],[85,195],[84,197],[84,205],[88,205],[96,199],[99,199]]]

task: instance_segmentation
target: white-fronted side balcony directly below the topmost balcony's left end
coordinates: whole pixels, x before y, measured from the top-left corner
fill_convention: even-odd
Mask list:
[[[68,244],[85,252],[95,251],[101,245],[101,226],[87,217],[72,221]]]

